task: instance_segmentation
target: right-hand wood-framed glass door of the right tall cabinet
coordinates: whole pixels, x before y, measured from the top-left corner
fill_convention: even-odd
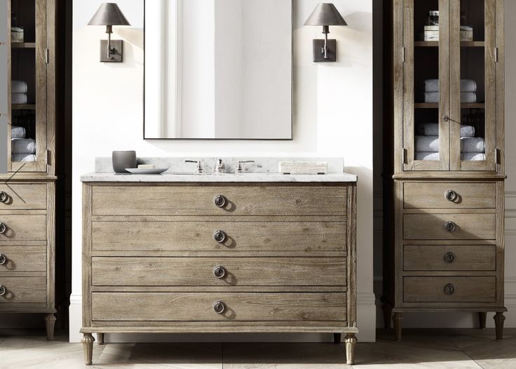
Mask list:
[[[450,1],[450,169],[496,170],[496,0]]]

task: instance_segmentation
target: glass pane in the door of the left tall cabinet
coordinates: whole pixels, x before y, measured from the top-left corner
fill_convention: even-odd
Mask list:
[[[11,160],[36,161],[34,0],[11,2]]]

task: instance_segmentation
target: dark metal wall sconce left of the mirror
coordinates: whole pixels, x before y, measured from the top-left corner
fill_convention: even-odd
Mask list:
[[[101,62],[122,62],[123,41],[111,41],[113,26],[130,26],[130,23],[115,3],[102,4],[88,23],[90,26],[106,26],[107,40],[100,40]]]

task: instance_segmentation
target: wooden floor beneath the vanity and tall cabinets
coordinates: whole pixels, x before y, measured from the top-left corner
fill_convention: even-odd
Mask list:
[[[496,341],[492,330],[405,330],[402,342],[378,332],[376,343],[359,343],[353,368],[516,368],[516,330]],[[511,335],[512,334],[512,335]],[[81,344],[66,335],[47,342],[42,331],[1,332],[0,368],[87,368]],[[344,364],[339,344],[184,343],[95,344],[89,368],[337,369]]]

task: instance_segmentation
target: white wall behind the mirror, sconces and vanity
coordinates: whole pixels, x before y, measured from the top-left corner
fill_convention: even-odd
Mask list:
[[[190,0],[188,0],[190,1]],[[139,156],[341,156],[358,182],[358,328],[374,340],[372,293],[372,1],[337,0],[348,27],[332,27],[339,60],[312,62],[319,27],[303,23],[319,0],[294,0],[294,140],[142,140],[142,0],[118,0],[133,27],[114,27],[124,42],[122,64],[99,62],[101,27],[86,23],[102,0],[74,0],[73,255],[70,340],[81,328],[81,182],[95,156],[135,149]],[[144,339],[144,337],[138,337]],[[311,338],[313,339],[313,337]]]

